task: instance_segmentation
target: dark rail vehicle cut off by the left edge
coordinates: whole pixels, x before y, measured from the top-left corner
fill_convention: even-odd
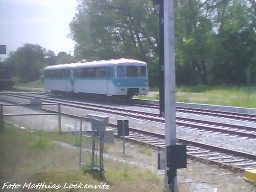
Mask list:
[[[10,68],[0,66],[0,90],[11,89],[14,86]]]

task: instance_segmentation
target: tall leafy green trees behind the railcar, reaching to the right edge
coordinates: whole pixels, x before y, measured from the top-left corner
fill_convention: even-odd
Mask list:
[[[152,0],[78,0],[70,38],[80,59],[148,63],[158,84],[158,8]],[[175,0],[177,84],[242,83],[256,75],[255,0]]]

